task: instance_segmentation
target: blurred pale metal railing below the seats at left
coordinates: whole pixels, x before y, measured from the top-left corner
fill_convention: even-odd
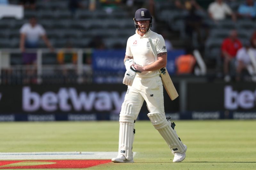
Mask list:
[[[68,64],[43,64],[43,54],[49,54],[53,53],[55,54],[52,57],[57,58],[57,53],[59,52],[63,53],[76,53],[77,54],[77,63],[68,63]],[[92,49],[86,48],[86,49],[55,49],[53,52],[49,49],[39,48],[39,49],[28,49],[26,50],[26,53],[36,53],[36,63],[34,65],[23,65],[22,63],[19,63],[17,65],[11,64],[11,54],[20,54],[22,56],[22,53],[20,49],[0,49],[0,84],[2,83],[3,77],[8,77],[9,74],[12,75],[23,75],[24,77],[31,77],[31,74],[28,74],[29,72],[34,72],[32,76],[34,76],[34,79],[36,79],[36,83],[40,84],[42,83],[42,77],[44,76],[44,72],[48,72],[48,74],[52,74],[52,72],[58,70],[62,71],[62,73],[65,73],[67,70],[72,70],[73,73],[76,74],[76,76],[73,76],[72,78],[76,77],[77,83],[83,83],[85,80],[83,78],[83,74],[86,72],[86,75],[92,75],[92,68],[90,64],[84,64],[83,63],[83,54],[84,53],[92,53]],[[3,67],[2,63],[2,57],[3,54],[6,55],[8,60],[7,66]],[[4,74],[4,75],[3,75]],[[8,78],[7,78],[8,79]],[[26,79],[26,78],[25,78]],[[90,80],[86,80],[90,81]]]

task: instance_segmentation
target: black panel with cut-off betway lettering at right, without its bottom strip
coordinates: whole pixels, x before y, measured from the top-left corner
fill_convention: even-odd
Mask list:
[[[188,83],[187,110],[256,110],[255,83]]]

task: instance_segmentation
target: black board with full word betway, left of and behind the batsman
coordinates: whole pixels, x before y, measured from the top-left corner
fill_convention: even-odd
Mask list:
[[[0,86],[0,121],[116,120],[126,90],[123,84]],[[179,101],[164,96],[166,111],[178,111]],[[144,103],[139,118],[147,113]]]

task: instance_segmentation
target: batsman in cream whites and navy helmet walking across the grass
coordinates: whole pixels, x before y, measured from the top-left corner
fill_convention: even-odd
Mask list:
[[[165,117],[163,83],[158,71],[165,67],[167,62],[164,38],[151,31],[152,16],[147,9],[138,9],[133,20],[136,31],[127,40],[124,57],[127,71],[123,83],[128,85],[128,89],[119,118],[118,155],[112,161],[134,162],[132,152],[134,124],[145,100],[149,111],[148,117],[171,149],[174,155],[173,162],[181,162],[185,159],[187,146],[180,141],[174,130],[175,124],[170,118]],[[150,44],[154,47],[150,47]],[[157,59],[152,49],[156,49]]]

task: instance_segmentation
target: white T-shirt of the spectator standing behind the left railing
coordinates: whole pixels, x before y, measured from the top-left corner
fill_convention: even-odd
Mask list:
[[[26,40],[33,43],[38,42],[40,36],[45,34],[45,30],[39,24],[32,27],[29,23],[26,23],[20,28],[20,33],[26,34]]]

